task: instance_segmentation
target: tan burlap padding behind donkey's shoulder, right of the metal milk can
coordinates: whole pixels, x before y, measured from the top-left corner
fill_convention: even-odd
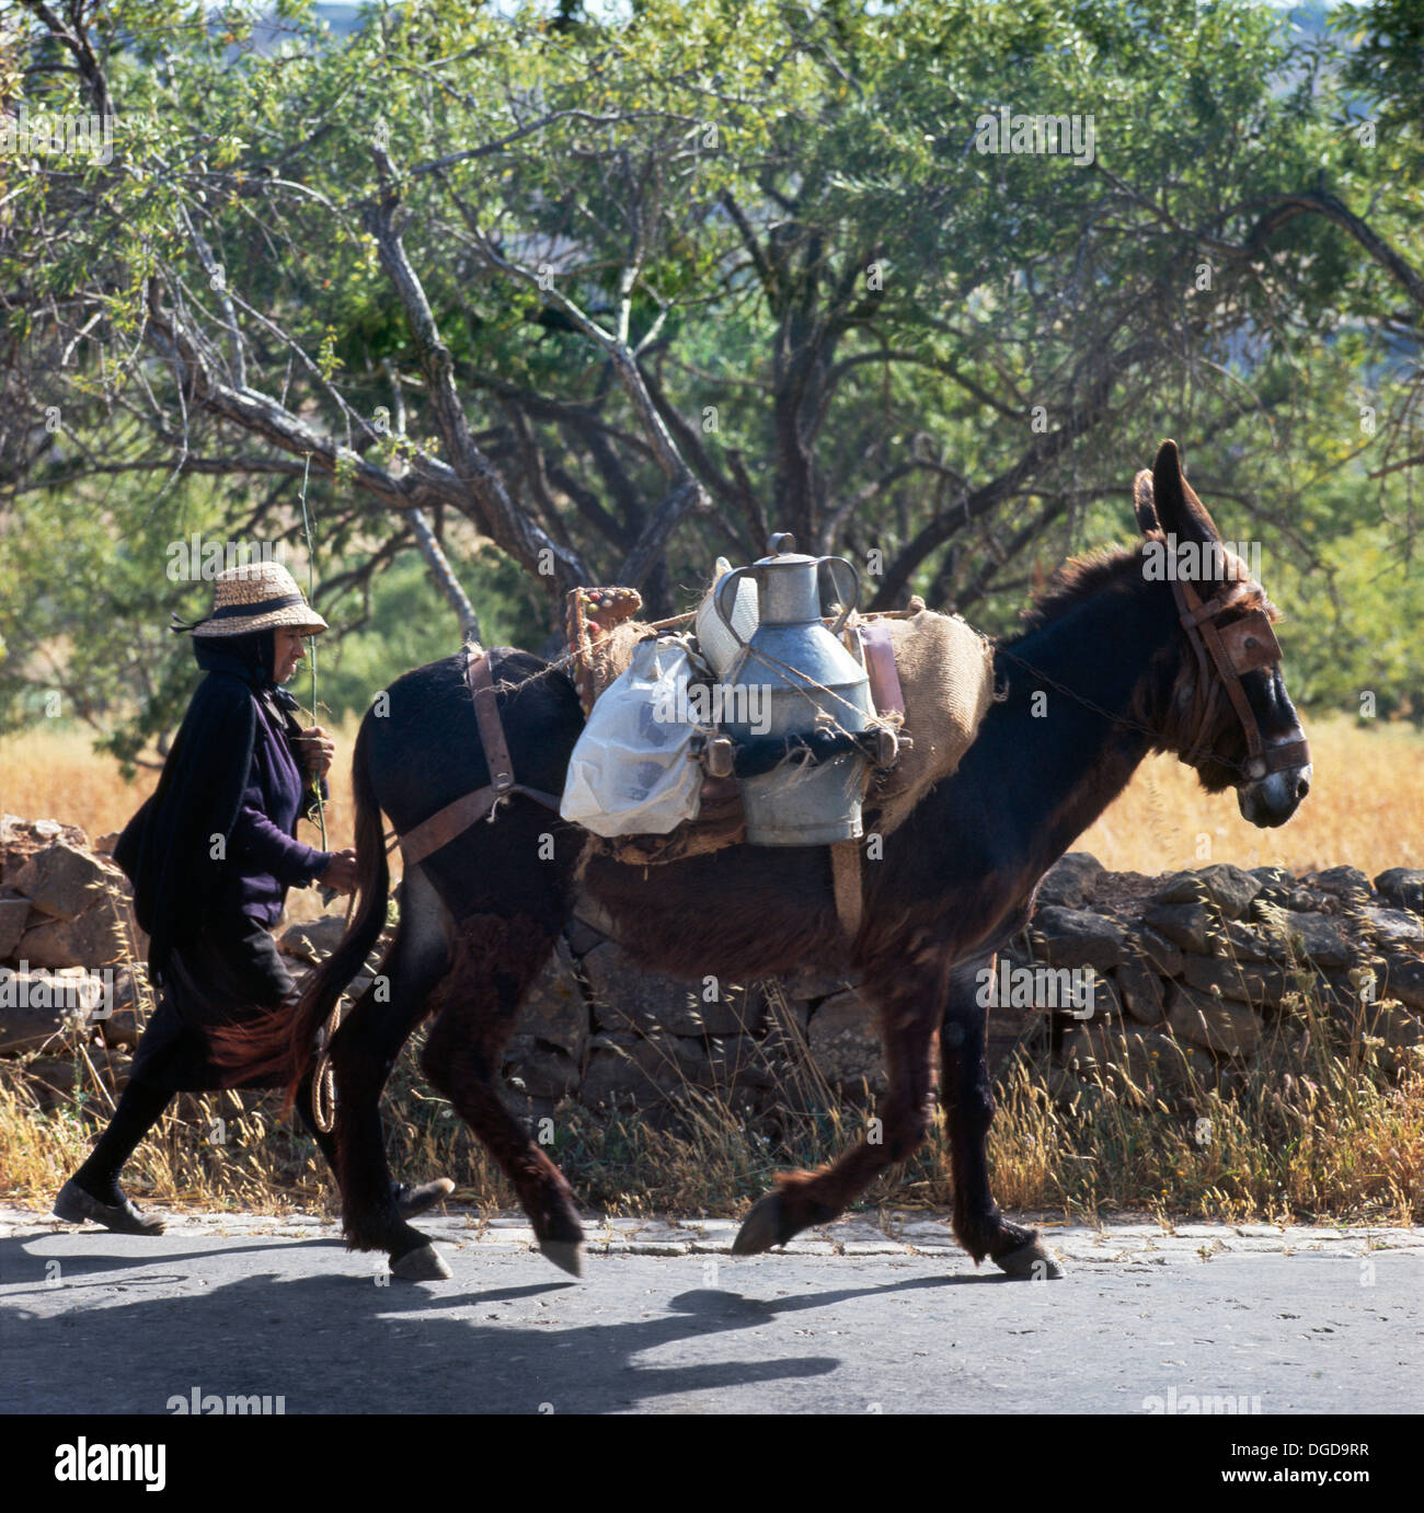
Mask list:
[[[953,776],[994,701],[994,649],[956,614],[920,610],[879,622],[890,632],[913,740],[894,767],[872,781],[866,829],[888,835],[944,778]]]

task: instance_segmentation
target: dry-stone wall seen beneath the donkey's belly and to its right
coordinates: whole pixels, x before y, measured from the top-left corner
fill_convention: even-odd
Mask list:
[[[1289,996],[1315,996],[1391,1053],[1424,1044],[1424,871],[1371,882],[1351,867],[1304,878],[1233,865],[1144,878],[1070,853],[1044,878],[1029,929],[1003,953],[988,1008],[990,1064],[1037,1052],[1071,1094],[1088,1064],[1130,1058],[1174,1077],[1215,1080],[1261,1045]],[[1017,979],[1014,970],[1017,968]],[[1076,973],[1091,1000],[1058,1008],[1018,986]],[[1062,977],[1058,979],[1059,982]],[[707,1000],[702,983],[640,973],[622,949],[575,926],[531,994],[507,1073],[531,1112],[574,1095],[648,1108],[692,1083],[764,1111],[831,1089],[860,1101],[884,1089],[875,1017],[852,980],[802,973],[772,1003],[761,983]],[[1052,990],[1052,985],[1050,985]]]

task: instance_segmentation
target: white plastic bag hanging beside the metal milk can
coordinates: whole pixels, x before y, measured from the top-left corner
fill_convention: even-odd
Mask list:
[[[693,673],[675,637],[639,642],[574,746],[558,812],[595,835],[666,835],[696,819],[702,767],[687,701]]]

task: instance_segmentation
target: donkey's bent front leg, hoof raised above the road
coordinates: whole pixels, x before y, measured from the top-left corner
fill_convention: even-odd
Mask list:
[[[784,1245],[807,1226],[834,1219],[881,1171],[925,1142],[934,1112],[929,1045],[943,1002],[943,971],[903,973],[876,1000],[890,1082],[876,1139],[867,1135],[832,1167],[779,1176],[778,1191],[761,1198],[737,1232],[734,1256]]]

